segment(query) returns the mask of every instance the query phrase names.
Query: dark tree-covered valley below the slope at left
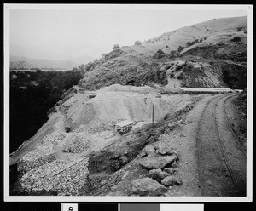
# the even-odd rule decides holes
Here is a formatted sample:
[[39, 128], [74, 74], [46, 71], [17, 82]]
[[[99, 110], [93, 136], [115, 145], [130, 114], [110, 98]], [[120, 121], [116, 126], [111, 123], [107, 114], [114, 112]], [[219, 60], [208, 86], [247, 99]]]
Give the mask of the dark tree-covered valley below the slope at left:
[[79, 71], [10, 72], [10, 152], [41, 128], [49, 109], [81, 77]]

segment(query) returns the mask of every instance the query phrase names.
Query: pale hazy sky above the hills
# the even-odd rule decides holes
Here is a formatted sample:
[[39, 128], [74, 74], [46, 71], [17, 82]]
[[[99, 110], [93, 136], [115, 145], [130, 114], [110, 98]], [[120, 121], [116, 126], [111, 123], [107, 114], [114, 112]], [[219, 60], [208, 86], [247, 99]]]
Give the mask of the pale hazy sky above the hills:
[[133, 45], [213, 18], [246, 10], [10, 9], [10, 54], [38, 59], [96, 58], [113, 44]]

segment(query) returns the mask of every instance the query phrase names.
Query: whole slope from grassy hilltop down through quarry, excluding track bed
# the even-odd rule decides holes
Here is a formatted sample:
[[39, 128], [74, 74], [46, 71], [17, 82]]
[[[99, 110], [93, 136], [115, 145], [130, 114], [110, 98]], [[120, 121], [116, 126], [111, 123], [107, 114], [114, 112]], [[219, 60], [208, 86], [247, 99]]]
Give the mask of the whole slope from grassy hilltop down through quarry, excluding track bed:
[[83, 77], [62, 94], [49, 121], [10, 155], [22, 176], [18, 193], [201, 196], [197, 125], [204, 106], [224, 95], [183, 88], [222, 93], [247, 86], [247, 17], [115, 45], [85, 63], [73, 68]]

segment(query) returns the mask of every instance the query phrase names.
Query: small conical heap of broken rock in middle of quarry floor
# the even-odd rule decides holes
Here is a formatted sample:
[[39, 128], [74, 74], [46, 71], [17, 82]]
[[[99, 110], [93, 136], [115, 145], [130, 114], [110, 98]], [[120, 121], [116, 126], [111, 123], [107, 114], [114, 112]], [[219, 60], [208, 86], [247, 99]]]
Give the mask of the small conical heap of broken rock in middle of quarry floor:
[[86, 133], [75, 136], [75, 138], [71, 141], [70, 144], [67, 144], [62, 151], [64, 152], [73, 152], [79, 153], [82, 151], [86, 151], [90, 148], [90, 140]]

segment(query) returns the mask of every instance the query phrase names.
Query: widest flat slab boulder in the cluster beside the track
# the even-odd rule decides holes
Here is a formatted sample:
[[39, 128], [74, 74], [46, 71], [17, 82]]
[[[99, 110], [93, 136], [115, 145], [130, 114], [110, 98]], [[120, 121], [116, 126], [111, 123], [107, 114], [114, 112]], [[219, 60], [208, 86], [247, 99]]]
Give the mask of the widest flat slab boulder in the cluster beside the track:
[[168, 164], [176, 161], [177, 156], [157, 156], [157, 157], [143, 157], [139, 163], [143, 166], [143, 168], [147, 169], [157, 169], [157, 168], [165, 168]]

